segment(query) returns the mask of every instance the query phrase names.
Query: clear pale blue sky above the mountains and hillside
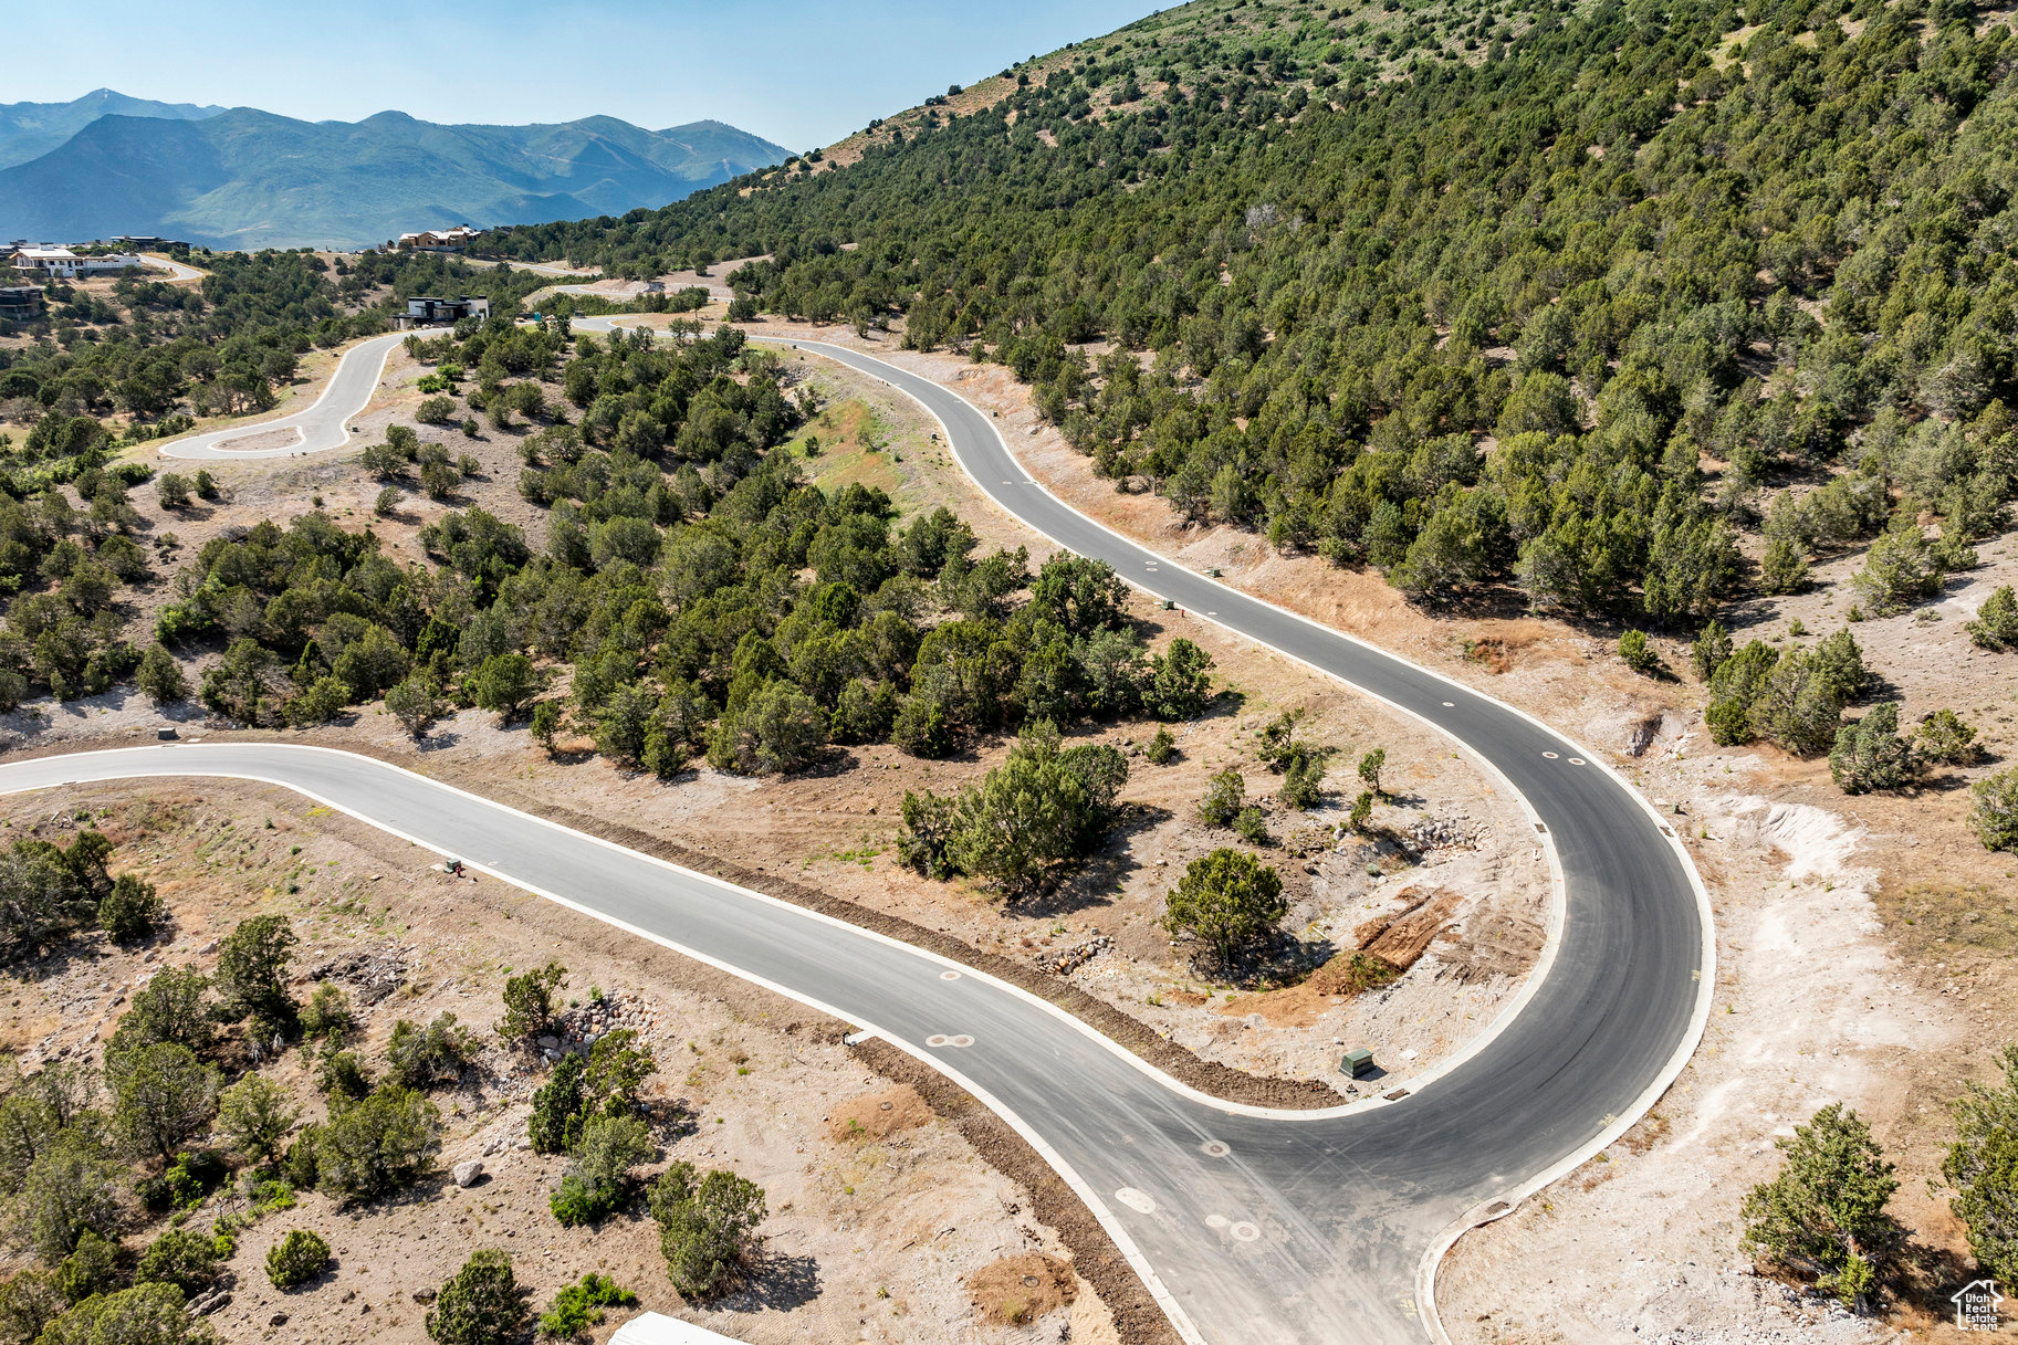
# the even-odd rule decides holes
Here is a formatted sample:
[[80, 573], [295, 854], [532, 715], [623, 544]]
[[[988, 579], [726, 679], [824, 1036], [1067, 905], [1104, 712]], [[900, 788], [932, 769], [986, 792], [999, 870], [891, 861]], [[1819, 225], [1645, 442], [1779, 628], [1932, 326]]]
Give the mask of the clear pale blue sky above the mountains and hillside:
[[0, 99], [61, 103], [109, 87], [311, 121], [385, 109], [492, 123], [605, 113], [656, 129], [716, 117], [787, 149], [811, 149], [948, 83], [1100, 36], [1156, 6], [97, 0], [91, 38], [34, 44], [32, 60], [8, 69]]

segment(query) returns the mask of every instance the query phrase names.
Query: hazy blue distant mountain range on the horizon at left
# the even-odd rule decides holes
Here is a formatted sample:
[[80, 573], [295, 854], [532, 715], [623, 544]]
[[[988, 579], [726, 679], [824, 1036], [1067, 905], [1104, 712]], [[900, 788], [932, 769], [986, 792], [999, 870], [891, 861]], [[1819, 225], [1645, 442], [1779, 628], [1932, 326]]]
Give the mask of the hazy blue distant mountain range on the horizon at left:
[[[36, 137], [63, 139], [22, 159], [18, 147]], [[295, 121], [101, 89], [77, 103], [0, 105], [0, 240], [161, 234], [212, 248], [361, 248], [422, 228], [658, 208], [785, 153], [720, 121], [664, 131], [615, 117]]]

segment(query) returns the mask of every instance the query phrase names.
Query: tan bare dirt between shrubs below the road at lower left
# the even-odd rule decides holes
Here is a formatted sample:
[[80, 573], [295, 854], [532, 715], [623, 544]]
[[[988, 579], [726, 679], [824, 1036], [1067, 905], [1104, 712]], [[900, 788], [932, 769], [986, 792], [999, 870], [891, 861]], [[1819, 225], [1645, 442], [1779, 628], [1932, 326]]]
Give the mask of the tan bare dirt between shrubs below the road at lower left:
[[[81, 819], [97, 825], [119, 845], [113, 867], [143, 873], [174, 911], [174, 928], [151, 946], [119, 950], [89, 936], [14, 982], [0, 1006], [0, 1045], [24, 1069], [93, 1059], [133, 990], [165, 966], [208, 972], [216, 940], [252, 913], [285, 913], [301, 936], [299, 998], [311, 988], [307, 972], [351, 954], [396, 968], [379, 974], [394, 988], [377, 1002], [367, 1002], [365, 978], [347, 986], [361, 1018], [353, 1049], [373, 1067], [398, 1018], [426, 1022], [446, 1010], [484, 1034], [476, 1069], [434, 1091], [446, 1123], [442, 1176], [353, 1212], [303, 1194], [297, 1208], [254, 1222], [228, 1264], [232, 1299], [212, 1317], [226, 1341], [270, 1341], [285, 1327], [281, 1339], [418, 1345], [426, 1309], [414, 1295], [440, 1287], [476, 1246], [509, 1250], [537, 1307], [599, 1270], [636, 1291], [644, 1309], [759, 1343], [1029, 1343], [1059, 1339], [1068, 1325], [1074, 1341], [1114, 1339], [1104, 1305], [1072, 1272], [1055, 1230], [1025, 1212], [1017, 1184], [912, 1089], [866, 1069], [839, 1045], [842, 1024], [502, 883], [440, 873], [432, 855], [289, 790], [93, 786], [6, 803], [10, 837], [65, 843]], [[553, 1220], [547, 1196], [565, 1159], [523, 1145], [543, 1071], [488, 1030], [502, 978], [547, 960], [569, 968], [571, 1000], [587, 1002], [593, 986], [644, 1024], [660, 1061], [646, 1097], [662, 1157], [735, 1168], [765, 1188], [765, 1262], [749, 1289], [714, 1305], [680, 1303], [648, 1216], [593, 1230]], [[301, 1051], [268, 1075], [307, 1119], [321, 1115]], [[458, 1190], [446, 1172], [466, 1157], [480, 1157], [486, 1176]], [[226, 1188], [192, 1226], [242, 1208]], [[131, 1240], [161, 1228], [165, 1220], [137, 1216]], [[337, 1266], [281, 1293], [266, 1282], [264, 1254], [291, 1228], [323, 1234]], [[1001, 1295], [971, 1287], [1039, 1256], [1057, 1268], [1047, 1297], [1031, 1297], [1015, 1319]], [[595, 1339], [626, 1315], [613, 1313]]]

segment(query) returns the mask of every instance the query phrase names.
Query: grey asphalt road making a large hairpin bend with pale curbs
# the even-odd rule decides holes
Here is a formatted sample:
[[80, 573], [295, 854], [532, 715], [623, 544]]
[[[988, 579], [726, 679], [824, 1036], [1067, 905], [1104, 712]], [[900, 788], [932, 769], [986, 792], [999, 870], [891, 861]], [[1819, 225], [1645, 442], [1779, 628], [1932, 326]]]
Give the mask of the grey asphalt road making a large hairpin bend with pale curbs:
[[[607, 319], [577, 323], [591, 325]], [[1447, 732], [1518, 792], [1532, 811], [1536, 863], [1554, 867], [1558, 909], [1528, 990], [1471, 1051], [1396, 1081], [1407, 1087], [1398, 1097], [1352, 1107], [1219, 1103], [989, 976], [321, 748], [184, 744], [6, 762], [0, 792], [133, 776], [297, 788], [932, 1063], [1057, 1168], [1187, 1341], [1443, 1339], [1433, 1276], [1449, 1242], [1624, 1133], [1701, 1034], [1713, 942], [1679, 839], [1622, 778], [1538, 720], [1074, 512], [1017, 466], [991, 417], [952, 391], [858, 351], [793, 345], [916, 397], [989, 496], [1174, 601], [1179, 625], [1217, 621], [1362, 688]]]

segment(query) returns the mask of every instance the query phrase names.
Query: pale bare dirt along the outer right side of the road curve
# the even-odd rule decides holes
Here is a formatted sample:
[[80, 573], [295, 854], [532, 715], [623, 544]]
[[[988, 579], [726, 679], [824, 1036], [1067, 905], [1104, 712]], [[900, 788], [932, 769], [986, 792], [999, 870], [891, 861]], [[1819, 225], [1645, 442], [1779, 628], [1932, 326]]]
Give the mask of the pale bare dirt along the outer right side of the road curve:
[[[1439, 1280], [1453, 1339], [1951, 1333], [1943, 1323], [1953, 1285], [1913, 1287], [1883, 1321], [1861, 1321], [1752, 1274], [1737, 1248], [1737, 1204], [1776, 1172], [1774, 1137], [1840, 1099], [1899, 1164], [1893, 1210], [1917, 1242], [1937, 1258], [1966, 1256], [1929, 1178], [1949, 1139], [1945, 1103], [1966, 1081], [1990, 1077], [1992, 1055], [2018, 1022], [2018, 980], [2004, 956], [2018, 944], [2018, 871], [1964, 825], [1968, 782], [2018, 748], [2018, 665], [1972, 649], [1961, 623], [2018, 579], [2010, 532], [1980, 544], [1982, 565], [1953, 577], [1937, 601], [1853, 627], [1881, 676], [1875, 698], [1901, 700], [1901, 722], [1953, 708], [1978, 726], [1986, 764], [1947, 770], [1907, 797], [1846, 799], [1826, 762], [1711, 744], [1701, 688], [1675, 639], [1655, 639], [1671, 674], [1643, 678], [1614, 657], [1616, 629], [1513, 605], [1425, 615], [1378, 575], [1283, 557], [1249, 532], [1187, 526], [1160, 498], [1118, 492], [1043, 425], [1027, 389], [999, 365], [900, 351], [894, 337], [862, 341], [846, 327], [759, 329], [856, 345], [957, 387], [997, 411], [1031, 474], [1084, 512], [1550, 720], [1604, 752], [1657, 807], [1689, 819], [1677, 829], [1717, 911], [1717, 996], [1703, 1049], [1624, 1141], [1457, 1244]], [[1859, 567], [1861, 551], [1816, 565], [1806, 595], [1744, 605], [1735, 637], [1788, 647], [1834, 633]]]

